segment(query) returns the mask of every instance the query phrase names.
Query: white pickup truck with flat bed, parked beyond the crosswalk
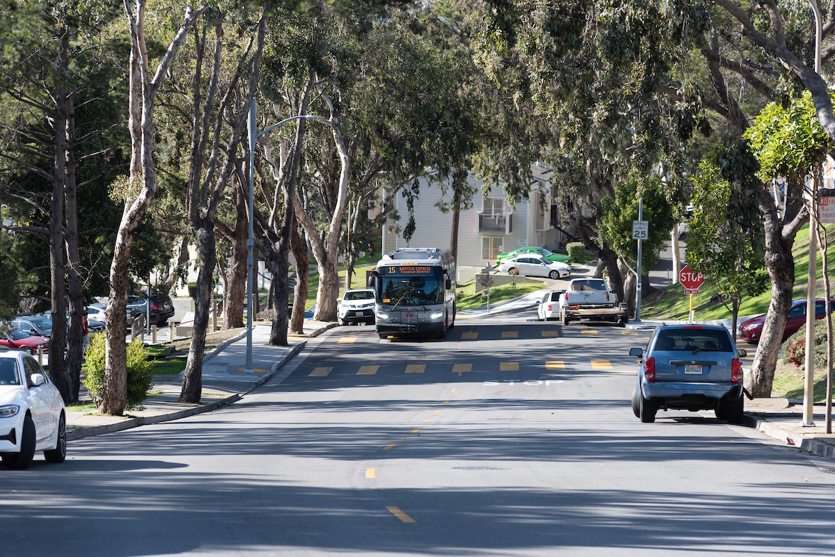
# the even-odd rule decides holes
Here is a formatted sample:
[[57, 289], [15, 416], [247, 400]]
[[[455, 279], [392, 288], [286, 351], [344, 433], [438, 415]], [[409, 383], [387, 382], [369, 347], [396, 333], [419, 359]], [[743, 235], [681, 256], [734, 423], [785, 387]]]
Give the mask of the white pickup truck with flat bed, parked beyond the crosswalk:
[[629, 321], [629, 307], [618, 304], [605, 278], [574, 278], [559, 300], [559, 320], [609, 321], [621, 326]]

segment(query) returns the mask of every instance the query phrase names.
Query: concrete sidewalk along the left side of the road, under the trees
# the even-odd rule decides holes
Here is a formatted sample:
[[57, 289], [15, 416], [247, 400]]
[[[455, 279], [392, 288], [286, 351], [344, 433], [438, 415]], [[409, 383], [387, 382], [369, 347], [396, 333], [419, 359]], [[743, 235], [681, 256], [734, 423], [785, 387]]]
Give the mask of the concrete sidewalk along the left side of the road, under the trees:
[[144, 409], [127, 410], [124, 416], [100, 415], [95, 409], [67, 413], [67, 439], [82, 439], [139, 425], [157, 424], [172, 419], [210, 412], [234, 403], [241, 395], [263, 384], [276, 369], [303, 349], [307, 339], [337, 324], [305, 321], [305, 335], [288, 336], [290, 346], [271, 346], [270, 324], [256, 324], [252, 329], [252, 370], [246, 368], [246, 333], [220, 343], [203, 359], [203, 394], [198, 404], [177, 402], [183, 374], [154, 375], [152, 391], [144, 400]]

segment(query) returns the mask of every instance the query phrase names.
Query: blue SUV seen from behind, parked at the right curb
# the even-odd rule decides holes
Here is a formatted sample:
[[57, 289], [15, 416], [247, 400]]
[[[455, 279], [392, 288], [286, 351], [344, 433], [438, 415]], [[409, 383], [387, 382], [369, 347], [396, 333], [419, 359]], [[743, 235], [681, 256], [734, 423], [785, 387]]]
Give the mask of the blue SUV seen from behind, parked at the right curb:
[[724, 327], [661, 325], [640, 358], [632, 411], [642, 422], [654, 422], [658, 410], [712, 409], [716, 418], [742, 423], [742, 364], [745, 350], [736, 349]]

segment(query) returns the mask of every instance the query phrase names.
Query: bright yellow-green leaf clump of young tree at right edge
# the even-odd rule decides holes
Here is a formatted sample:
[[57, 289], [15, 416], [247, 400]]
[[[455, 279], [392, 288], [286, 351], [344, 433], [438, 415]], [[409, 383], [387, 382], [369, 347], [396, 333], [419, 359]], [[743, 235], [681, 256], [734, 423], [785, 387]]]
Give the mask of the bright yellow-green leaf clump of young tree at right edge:
[[[833, 95], [830, 91], [830, 96]], [[785, 177], [800, 182], [817, 168], [832, 142], [817, 121], [812, 93], [794, 98], [787, 107], [770, 103], [757, 116], [744, 137], [751, 142], [760, 163], [762, 180]]]

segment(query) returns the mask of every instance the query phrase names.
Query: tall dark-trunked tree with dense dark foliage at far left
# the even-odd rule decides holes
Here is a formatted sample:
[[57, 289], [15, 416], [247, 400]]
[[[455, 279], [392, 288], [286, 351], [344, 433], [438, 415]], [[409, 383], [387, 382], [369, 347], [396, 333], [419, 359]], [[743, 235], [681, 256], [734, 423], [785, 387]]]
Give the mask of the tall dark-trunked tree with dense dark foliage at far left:
[[[48, 238], [48, 280], [21, 282], [49, 299], [50, 373], [71, 403], [78, 400], [83, 290], [89, 281], [79, 248], [79, 189], [111, 172], [106, 157], [111, 163], [119, 159], [119, 138], [109, 133], [119, 122], [114, 50], [120, 43], [108, 31], [117, 5], [7, 2], [0, 13], [4, 203], [16, 213], [13, 228]], [[43, 238], [28, 244], [43, 245]], [[28, 255], [26, 264], [38, 260]]]

